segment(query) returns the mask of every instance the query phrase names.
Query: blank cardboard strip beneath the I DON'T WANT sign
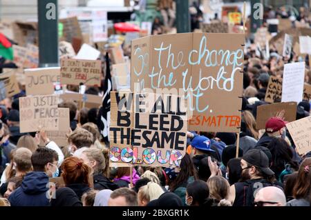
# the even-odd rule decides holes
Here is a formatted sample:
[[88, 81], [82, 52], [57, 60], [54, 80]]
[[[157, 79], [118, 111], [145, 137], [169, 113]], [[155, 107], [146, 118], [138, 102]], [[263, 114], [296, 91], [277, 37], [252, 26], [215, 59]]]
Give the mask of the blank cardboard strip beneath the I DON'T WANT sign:
[[77, 103], [85, 103], [86, 108], [99, 108], [102, 105], [102, 97], [95, 94], [79, 94], [75, 92], [68, 92], [59, 95], [62, 101], [76, 101]]

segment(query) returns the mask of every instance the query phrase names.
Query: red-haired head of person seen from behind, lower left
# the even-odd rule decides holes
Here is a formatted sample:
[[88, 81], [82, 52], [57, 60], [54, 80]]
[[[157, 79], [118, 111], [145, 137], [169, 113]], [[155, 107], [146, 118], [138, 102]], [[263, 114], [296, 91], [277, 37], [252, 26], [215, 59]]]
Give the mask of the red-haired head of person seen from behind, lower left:
[[62, 177], [64, 178], [65, 185], [73, 183], [84, 183], [91, 186], [88, 181], [88, 176], [91, 174], [91, 169], [82, 159], [77, 157], [68, 157], [62, 163]]

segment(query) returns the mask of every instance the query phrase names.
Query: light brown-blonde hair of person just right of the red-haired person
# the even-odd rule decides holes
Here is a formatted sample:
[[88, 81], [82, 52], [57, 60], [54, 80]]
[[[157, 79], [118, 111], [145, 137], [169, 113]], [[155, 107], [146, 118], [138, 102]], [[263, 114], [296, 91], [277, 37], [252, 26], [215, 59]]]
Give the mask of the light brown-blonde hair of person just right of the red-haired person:
[[84, 150], [82, 152], [82, 154], [85, 154], [86, 157], [90, 160], [90, 161], [96, 161], [96, 166], [94, 168], [94, 174], [102, 174], [105, 177], [109, 177], [106, 176], [107, 174], [107, 168], [109, 169], [109, 166], [106, 166], [106, 159], [104, 157], [104, 153], [102, 152], [102, 150], [98, 150], [97, 148], [88, 148], [86, 150]]

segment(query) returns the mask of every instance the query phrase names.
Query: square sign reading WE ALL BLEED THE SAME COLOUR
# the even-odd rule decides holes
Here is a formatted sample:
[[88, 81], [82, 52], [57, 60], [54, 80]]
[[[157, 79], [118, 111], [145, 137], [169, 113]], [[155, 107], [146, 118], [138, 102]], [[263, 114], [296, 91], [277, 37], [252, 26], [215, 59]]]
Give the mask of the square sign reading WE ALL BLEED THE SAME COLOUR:
[[109, 139], [111, 166], [179, 167], [187, 143], [185, 99], [111, 92]]

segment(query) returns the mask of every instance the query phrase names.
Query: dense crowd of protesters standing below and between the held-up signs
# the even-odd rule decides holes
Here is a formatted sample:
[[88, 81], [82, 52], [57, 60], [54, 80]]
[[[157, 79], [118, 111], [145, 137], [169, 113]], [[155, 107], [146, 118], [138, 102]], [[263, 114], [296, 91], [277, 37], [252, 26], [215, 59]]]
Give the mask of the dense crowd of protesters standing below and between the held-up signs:
[[[57, 146], [44, 130], [20, 132], [24, 90], [4, 99], [0, 206], [310, 206], [311, 152], [298, 153], [279, 115], [268, 119], [265, 129], [256, 129], [256, 109], [267, 104], [269, 77], [282, 77], [284, 64], [299, 57], [292, 52], [284, 59], [271, 48], [265, 60], [252, 48], [245, 53], [238, 151], [235, 133], [189, 131], [179, 168], [109, 167], [98, 108], [79, 111], [75, 102], [61, 103], [70, 109], [70, 131], [67, 146]], [[311, 83], [307, 68], [305, 83]], [[102, 88], [90, 87], [86, 93], [99, 95]], [[302, 101], [296, 119], [309, 115], [310, 103]], [[64, 186], [51, 191], [50, 178], [56, 177], [62, 177]]]

